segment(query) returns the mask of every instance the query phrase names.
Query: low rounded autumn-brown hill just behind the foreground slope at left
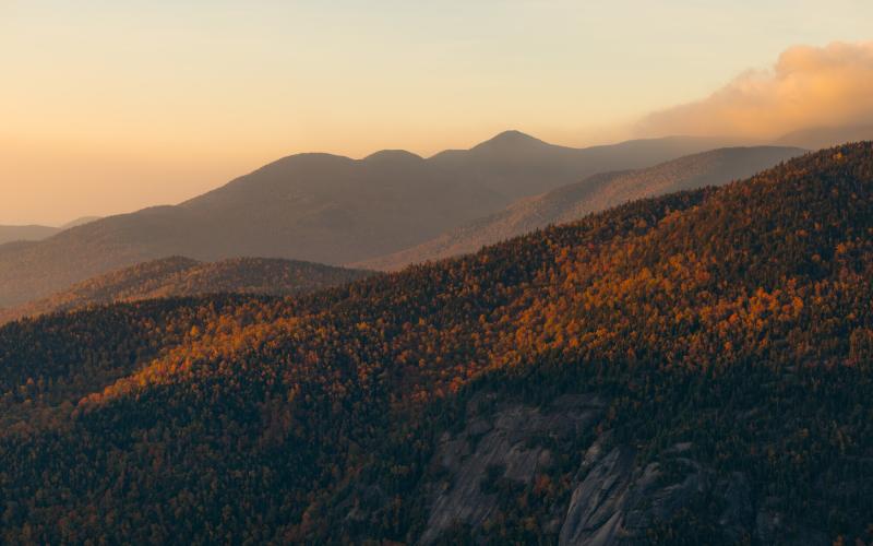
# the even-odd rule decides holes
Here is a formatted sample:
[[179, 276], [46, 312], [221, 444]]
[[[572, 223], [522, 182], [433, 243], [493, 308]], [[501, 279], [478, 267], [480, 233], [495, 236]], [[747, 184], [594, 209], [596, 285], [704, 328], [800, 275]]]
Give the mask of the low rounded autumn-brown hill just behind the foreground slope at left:
[[46, 299], [0, 309], [0, 323], [95, 305], [162, 297], [219, 293], [298, 295], [357, 281], [370, 274], [360, 270], [278, 259], [235, 258], [201, 263], [172, 257], [106, 273]]

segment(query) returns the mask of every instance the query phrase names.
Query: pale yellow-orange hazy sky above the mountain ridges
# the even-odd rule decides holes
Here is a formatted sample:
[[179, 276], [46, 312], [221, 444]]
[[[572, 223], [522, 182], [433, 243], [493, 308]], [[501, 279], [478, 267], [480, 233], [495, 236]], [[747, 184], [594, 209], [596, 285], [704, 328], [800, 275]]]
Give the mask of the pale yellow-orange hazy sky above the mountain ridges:
[[871, 22], [870, 0], [0, 0], [0, 224], [178, 202], [303, 151], [427, 155], [509, 128], [583, 145], [699, 132], [701, 111], [754, 132], [706, 97], [842, 88], [779, 76], [842, 52], [779, 56]]

